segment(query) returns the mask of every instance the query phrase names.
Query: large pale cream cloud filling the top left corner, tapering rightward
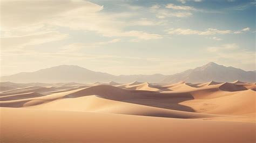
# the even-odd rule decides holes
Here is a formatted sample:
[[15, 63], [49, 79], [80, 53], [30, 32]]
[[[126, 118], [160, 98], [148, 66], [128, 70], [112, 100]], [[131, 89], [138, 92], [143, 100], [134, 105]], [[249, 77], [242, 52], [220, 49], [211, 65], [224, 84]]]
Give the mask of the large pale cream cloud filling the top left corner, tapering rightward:
[[1, 28], [22, 28], [32, 24], [46, 23], [64, 13], [80, 11], [93, 13], [103, 6], [83, 1], [1, 1]]

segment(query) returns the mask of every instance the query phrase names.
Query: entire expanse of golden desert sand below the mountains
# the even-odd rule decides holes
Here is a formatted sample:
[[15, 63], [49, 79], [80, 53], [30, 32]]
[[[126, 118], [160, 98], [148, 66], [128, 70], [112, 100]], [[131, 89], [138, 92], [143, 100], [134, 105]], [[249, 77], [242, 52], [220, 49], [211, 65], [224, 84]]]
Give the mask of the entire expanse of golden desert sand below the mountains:
[[255, 142], [256, 84], [0, 84], [0, 142]]

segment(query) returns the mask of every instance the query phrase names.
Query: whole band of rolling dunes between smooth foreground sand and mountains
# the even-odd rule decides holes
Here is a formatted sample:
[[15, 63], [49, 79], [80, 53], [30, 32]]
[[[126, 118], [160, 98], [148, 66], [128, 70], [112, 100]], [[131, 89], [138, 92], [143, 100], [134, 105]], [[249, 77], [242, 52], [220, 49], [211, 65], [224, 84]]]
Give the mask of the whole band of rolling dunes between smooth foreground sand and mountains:
[[[10, 85], [16, 88], [0, 93], [0, 106], [2, 107], [48, 108], [51, 110], [69, 110], [74, 107], [74, 111], [169, 118], [212, 117], [216, 119], [219, 114], [223, 114], [224, 118], [226, 118], [225, 115], [247, 115], [250, 117], [255, 114], [255, 84], [241, 83], [240, 81], [233, 83], [210, 81], [201, 84], [180, 82], [170, 85], [137, 81], [129, 84], [110, 82], [38, 85], [35, 83], [25, 85], [11, 83]], [[92, 110], [89, 105], [97, 105], [97, 110], [96, 107]], [[245, 107], [245, 109], [239, 110], [239, 107]], [[114, 108], [119, 108], [119, 110]], [[209, 116], [208, 113], [211, 115]]]

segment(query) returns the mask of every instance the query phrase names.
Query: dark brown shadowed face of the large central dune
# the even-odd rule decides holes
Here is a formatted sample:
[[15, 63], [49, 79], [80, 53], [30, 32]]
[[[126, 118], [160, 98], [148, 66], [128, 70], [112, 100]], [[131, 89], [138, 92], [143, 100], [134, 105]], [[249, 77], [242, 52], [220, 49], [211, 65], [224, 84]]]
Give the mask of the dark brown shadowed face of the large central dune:
[[64, 98], [77, 98], [90, 95], [132, 104], [195, 112], [193, 108], [179, 104], [183, 101], [194, 99], [193, 96], [187, 92], [161, 93], [157, 91], [125, 90], [109, 85], [99, 85], [68, 94]]

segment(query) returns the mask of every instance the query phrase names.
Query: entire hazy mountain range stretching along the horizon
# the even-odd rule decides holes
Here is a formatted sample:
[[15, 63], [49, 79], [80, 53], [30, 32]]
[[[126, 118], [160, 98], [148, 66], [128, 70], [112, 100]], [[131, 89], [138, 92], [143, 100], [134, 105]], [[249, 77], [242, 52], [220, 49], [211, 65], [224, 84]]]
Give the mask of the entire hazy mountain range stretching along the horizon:
[[95, 72], [87, 70], [77, 65], [60, 65], [42, 69], [35, 72], [21, 72], [11, 76], [1, 77], [1, 81], [11, 81], [15, 83], [94, 83], [116, 81], [118, 83], [128, 83], [132, 81], [149, 83], [177, 83], [186, 81], [188, 83], [204, 83], [207, 81], [231, 82], [234, 80], [255, 82], [256, 72], [244, 71], [232, 66], [223, 66], [216, 63], [196, 67], [196, 69], [184, 72], [164, 75], [164, 74], [135, 74], [114, 76], [109, 73]]

